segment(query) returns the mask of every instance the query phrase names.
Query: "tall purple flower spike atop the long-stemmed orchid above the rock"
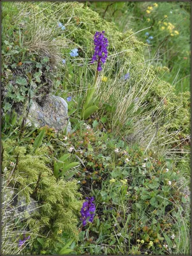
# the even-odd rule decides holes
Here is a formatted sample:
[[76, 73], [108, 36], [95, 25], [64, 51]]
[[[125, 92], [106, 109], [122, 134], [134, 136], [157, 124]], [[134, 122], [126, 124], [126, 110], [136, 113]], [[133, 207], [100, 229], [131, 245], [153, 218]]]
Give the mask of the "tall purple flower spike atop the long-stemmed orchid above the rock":
[[96, 32], [94, 35], [94, 54], [92, 56], [92, 63], [98, 61], [98, 71], [102, 70], [101, 62], [104, 64], [107, 60], [108, 39], [104, 36], [105, 31]]

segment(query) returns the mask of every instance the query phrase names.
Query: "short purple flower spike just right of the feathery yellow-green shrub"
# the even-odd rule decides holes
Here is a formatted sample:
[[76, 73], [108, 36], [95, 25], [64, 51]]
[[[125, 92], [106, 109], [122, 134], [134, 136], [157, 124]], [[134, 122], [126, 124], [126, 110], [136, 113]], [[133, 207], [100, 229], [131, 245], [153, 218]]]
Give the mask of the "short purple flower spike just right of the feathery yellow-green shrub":
[[94, 219], [95, 215], [95, 205], [93, 203], [94, 197], [92, 196], [91, 198], [86, 197], [87, 201], [84, 202], [82, 209], [80, 211], [83, 222], [83, 226], [87, 224], [87, 221], [92, 222]]

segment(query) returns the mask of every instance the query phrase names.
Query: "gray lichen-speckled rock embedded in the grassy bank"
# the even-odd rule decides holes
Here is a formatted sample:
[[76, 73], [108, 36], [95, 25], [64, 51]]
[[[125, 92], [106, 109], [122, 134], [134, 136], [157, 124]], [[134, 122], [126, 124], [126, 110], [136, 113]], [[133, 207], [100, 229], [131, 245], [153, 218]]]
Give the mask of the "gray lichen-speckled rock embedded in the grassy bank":
[[67, 102], [55, 95], [45, 97], [41, 106], [33, 100], [29, 108], [26, 125], [37, 128], [48, 125], [48, 127], [54, 128], [57, 131], [66, 128], [67, 132], [71, 132]]

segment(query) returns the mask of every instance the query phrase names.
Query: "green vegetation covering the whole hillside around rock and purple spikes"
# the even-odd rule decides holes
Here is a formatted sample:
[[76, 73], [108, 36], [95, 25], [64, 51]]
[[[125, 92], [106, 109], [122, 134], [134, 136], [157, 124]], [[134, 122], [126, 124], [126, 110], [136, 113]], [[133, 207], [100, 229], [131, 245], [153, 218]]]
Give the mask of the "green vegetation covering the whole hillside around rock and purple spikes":
[[[115, 3], [103, 19], [108, 4], [2, 4], [2, 254], [190, 252], [188, 45], [180, 51], [190, 6]], [[96, 31], [108, 39], [100, 72], [91, 63]], [[41, 106], [48, 93], [67, 100], [70, 134], [25, 124], [31, 102]], [[84, 226], [92, 196], [94, 220]], [[33, 200], [33, 213], [15, 198]]]

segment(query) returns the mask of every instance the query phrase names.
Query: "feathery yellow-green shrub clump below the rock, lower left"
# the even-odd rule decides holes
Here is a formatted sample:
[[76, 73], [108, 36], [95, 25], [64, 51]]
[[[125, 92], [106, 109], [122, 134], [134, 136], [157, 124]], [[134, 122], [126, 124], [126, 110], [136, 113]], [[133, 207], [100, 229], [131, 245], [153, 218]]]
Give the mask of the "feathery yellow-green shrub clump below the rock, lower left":
[[17, 189], [18, 201], [20, 196], [25, 196], [26, 202], [31, 198], [38, 202], [38, 211], [26, 220], [29, 230], [33, 230], [30, 244], [38, 236], [46, 237], [45, 248], [63, 243], [58, 235], [60, 230], [77, 239], [78, 214], [82, 207], [77, 181], [55, 179], [47, 166], [48, 148], [45, 146], [34, 150], [30, 146], [18, 147], [16, 141], [7, 140], [3, 148], [3, 170], [7, 168], [5, 179], [12, 177], [10, 185]]

